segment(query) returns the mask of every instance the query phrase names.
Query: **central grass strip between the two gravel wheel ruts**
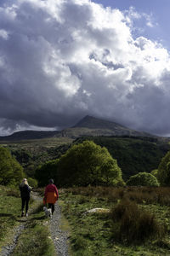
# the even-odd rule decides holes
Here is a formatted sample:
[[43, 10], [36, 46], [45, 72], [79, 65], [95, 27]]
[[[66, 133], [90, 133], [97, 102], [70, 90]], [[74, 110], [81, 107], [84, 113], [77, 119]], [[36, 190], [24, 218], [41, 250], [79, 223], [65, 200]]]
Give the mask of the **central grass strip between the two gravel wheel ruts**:
[[48, 221], [42, 212], [42, 203], [35, 204], [12, 256], [54, 256], [54, 243], [48, 230]]

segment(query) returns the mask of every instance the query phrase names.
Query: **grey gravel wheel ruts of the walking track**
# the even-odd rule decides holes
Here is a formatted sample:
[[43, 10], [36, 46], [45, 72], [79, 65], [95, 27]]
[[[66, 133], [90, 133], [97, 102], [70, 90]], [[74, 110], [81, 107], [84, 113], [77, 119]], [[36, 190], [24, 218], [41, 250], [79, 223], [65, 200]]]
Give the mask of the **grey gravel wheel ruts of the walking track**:
[[[35, 201], [42, 201], [42, 197], [40, 197], [37, 192], [32, 192], [32, 198]], [[32, 209], [29, 210], [29, 214], [31, 214]], [[49, 230], [51, 233], [51, 237], [54, 241], [55, 252], [57, 256], [70, 256], [68, 252], [68, 232], [62, 230], [61, 227], [61, 207], [57, 202], [55, 204], [55, 211], [53, 217], [48, 220], [49, 221]], [[23, 230], [26, 229], [27, 219], [23, 220], [23, 222], [14, 228], [14, 236], [13, 239], [8, 245], [2, 247], [2, 251], [0, 256], [10, 256], [14, 252], [14, 248], [17, 246], [17, 242], [22, 234]], [[32, 255], [36, 256], [36, 255]]]

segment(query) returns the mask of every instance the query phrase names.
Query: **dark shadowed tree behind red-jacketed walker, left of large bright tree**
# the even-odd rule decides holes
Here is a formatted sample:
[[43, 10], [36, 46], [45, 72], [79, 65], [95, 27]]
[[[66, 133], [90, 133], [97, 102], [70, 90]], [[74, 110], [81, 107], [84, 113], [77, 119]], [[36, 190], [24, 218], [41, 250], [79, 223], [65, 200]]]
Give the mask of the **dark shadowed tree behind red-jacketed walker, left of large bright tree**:
[[35, 177], [39, 187], [46, 186], [50, 178], [54, 178], [54, 183], [59, 183], [58, 163], [59, 160], [51, 160], [37, 168]]

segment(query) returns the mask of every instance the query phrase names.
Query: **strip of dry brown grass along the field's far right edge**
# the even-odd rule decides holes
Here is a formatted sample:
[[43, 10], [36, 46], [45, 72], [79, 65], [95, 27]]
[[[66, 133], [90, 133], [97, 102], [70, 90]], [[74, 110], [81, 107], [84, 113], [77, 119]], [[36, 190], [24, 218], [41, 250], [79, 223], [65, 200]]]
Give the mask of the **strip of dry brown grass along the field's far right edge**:
[[[61, 190], [62, 191], [62, 190]], [[72, 195], [85, 195], [106, 199], [116, 202], [122, 199], [135, 201], [138, 204], [159, 204], [161, 206], [170, 206], [170, 188], [152, 188], [152, 187], [92, 187], [88, 186], [65, 189]], [[62, 193], [62, 192], [61, 192]]]

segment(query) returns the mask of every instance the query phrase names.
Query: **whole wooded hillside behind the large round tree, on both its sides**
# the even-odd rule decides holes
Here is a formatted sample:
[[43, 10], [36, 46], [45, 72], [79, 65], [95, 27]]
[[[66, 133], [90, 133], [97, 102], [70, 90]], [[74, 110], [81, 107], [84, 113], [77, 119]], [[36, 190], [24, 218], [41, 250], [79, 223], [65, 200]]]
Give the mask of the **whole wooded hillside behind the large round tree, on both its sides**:
[[[124, 180], [138, 172], [151, 172], [157, 169], [161, 158], [170, 150], [170, 144], [166, 140], [150, 137], [81, 137], [73, 144], [82, 143], [87, 139], [108, 149], [112, 158], [117, 160]], [[8, 145], [23, 166], [27, 177], [35, 178], [38, 166], [65, 154], [71, 143], [72, 139], [68, 137], [53, 137], [5, 145]]]

